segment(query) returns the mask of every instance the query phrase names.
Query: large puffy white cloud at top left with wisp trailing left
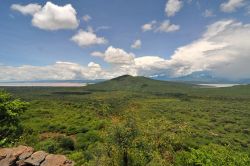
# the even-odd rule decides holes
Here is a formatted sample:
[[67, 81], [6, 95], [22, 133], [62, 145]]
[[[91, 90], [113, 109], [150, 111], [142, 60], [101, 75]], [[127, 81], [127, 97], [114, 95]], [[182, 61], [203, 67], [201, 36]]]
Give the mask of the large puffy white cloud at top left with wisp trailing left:
[[43, 7], [38, 4], [13, 4], [11, 9], [32, 15], [32, 25], [43, 30], [76, 29], [79, 26], [77, 12], [71, 4], [58, 6], [47, 2]]

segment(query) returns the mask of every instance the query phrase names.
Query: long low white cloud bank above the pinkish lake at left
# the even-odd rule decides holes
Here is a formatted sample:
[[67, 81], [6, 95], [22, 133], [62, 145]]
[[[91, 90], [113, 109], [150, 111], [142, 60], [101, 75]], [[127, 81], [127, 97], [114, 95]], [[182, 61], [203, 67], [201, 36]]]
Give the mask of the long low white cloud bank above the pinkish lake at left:
[[87, 66], [61, 61], [47, 66], [0, 66], [0, 70], [1, 81], [109, 78], [108, 73], [94, 62], [90, 62]]

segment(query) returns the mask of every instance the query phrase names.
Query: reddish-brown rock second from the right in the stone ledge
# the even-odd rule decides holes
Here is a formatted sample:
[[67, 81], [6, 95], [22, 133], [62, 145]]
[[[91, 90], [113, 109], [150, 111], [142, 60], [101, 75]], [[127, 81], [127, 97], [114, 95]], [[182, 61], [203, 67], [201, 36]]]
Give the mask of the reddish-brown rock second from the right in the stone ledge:
[[48, 154], [44, 151], [37, 151], [33, 153], [28, 159], [26, 159], [24, 162], [26, 164], [34, 165], [34, 166], [39, 166], [44, 160], [45, 157]]

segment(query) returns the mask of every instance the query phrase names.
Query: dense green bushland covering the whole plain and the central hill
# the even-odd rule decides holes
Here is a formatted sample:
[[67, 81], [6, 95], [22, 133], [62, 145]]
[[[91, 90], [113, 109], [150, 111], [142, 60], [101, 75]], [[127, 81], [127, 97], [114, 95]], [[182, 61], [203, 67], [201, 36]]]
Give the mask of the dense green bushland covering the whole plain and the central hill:
[[122, 76], [82, 88], [6, 87], [30, 103], [15, 144], [77, 165], [250, 165], [250, 86]]

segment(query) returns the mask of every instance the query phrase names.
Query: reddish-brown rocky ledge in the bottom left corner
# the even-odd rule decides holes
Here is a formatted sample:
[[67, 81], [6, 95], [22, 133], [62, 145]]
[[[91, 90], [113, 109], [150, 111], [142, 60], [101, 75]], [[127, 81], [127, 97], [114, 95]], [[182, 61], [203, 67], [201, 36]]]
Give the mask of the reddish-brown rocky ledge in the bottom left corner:
[[0, 149], [0, 166], [73, 166], [64, 155], [35, 152], [33, 148], [18, 146]]

